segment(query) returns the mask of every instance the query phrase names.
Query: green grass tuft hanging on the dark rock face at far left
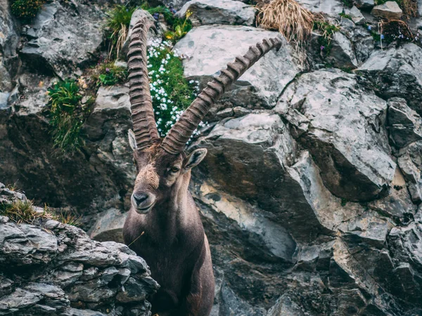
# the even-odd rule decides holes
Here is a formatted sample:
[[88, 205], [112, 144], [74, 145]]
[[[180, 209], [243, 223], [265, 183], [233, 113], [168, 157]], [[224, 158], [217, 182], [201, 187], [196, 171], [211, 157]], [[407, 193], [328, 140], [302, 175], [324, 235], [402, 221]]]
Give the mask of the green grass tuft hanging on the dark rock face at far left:
[[[82, 80], [84, 82], [84, 80]], [[80, 82], [82, 86], [85, 84]], [[72, 152], [82, 145], [80, 131], [93, 98], [82, 105], [82, 94], [74, 80], [56, 82], [49, 88], [49, 103], [46, 107], [51, 124], [54, 146], [63, 152]]]

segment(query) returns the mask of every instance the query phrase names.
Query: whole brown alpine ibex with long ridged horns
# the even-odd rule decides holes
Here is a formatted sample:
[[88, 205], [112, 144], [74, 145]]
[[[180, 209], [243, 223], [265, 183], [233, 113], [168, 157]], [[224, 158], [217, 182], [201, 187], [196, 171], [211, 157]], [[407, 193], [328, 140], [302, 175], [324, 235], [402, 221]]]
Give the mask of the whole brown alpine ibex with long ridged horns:
[[124, 242], [145, 258], [152, 277], [160, 284], [151, 299], [153, 315], [207, 316], [214, 301], [214, 275], [210, 246], [195, 202], [188, 192], [191, 169], [207, 154], [200, 148], [191, 154], [184, 147], [216, 100], [241, 75], [281, 39], [251, 46], [243, 57], [221, 71], [181, 115], [164, 139], [155, 124], [149, 87], [146, 37], [154, 25], [140, 20], [134, 26], [127, 54], [129, 96], [134, 131], [136, 176], [132, 207], [124, 223]]

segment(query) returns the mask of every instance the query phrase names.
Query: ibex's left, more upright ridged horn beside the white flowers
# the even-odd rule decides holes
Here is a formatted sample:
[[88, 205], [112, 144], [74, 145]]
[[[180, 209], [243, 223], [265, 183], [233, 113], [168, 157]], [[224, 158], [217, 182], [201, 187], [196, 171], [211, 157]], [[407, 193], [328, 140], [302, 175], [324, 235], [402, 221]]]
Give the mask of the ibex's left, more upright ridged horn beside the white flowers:
[[140, 150], [149, 147], [155, 140], [160, 139], [154, 119], [148, 68], [146, 66], [146, 38], [150, 27], [155, 29], [155, 25], [147, 18], [143, 18], [136, 23], [132, 29], [129, 53], [127, 53], [129, 98], [136, 145]]

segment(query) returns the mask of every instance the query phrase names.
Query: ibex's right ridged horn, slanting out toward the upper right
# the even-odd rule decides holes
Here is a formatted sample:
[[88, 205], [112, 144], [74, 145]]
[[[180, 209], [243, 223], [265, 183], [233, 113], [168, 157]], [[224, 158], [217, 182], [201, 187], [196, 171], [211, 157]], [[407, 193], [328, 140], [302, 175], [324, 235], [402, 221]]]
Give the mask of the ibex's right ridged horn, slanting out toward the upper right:
[[246, 70], [274, 47], [277, 49], [281, 47], [281, 39], [279, 37], [264, 39], [262, 43], [250, 46], [248, 53], [243, 55], [243, 57], [238, 56], [234, 62], [230, 62], [226, 69], [221, 70], [221, 74], [218, 77], [207, 83], [207, 87], [189, 105], [179, 118], [179, 121], [174, 124], [167, 136], [165, 136], [161, 147], [170, 154], [181, 152], [200, 121], [203, 120], [212, 105], [223, 95], [226, 88], [231, 86]]

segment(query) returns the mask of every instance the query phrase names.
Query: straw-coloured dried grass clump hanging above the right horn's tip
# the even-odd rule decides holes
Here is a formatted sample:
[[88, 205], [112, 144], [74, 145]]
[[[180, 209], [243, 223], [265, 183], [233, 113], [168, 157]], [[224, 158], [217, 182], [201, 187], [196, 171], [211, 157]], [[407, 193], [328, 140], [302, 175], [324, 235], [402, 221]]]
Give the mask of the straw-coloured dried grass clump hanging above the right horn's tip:
[[277, 29], [290, 43], [303, 44], [314, 27], [315, 15], [294, 0], [274, 0], [264, 4], [257, 16], [257, 24]]

